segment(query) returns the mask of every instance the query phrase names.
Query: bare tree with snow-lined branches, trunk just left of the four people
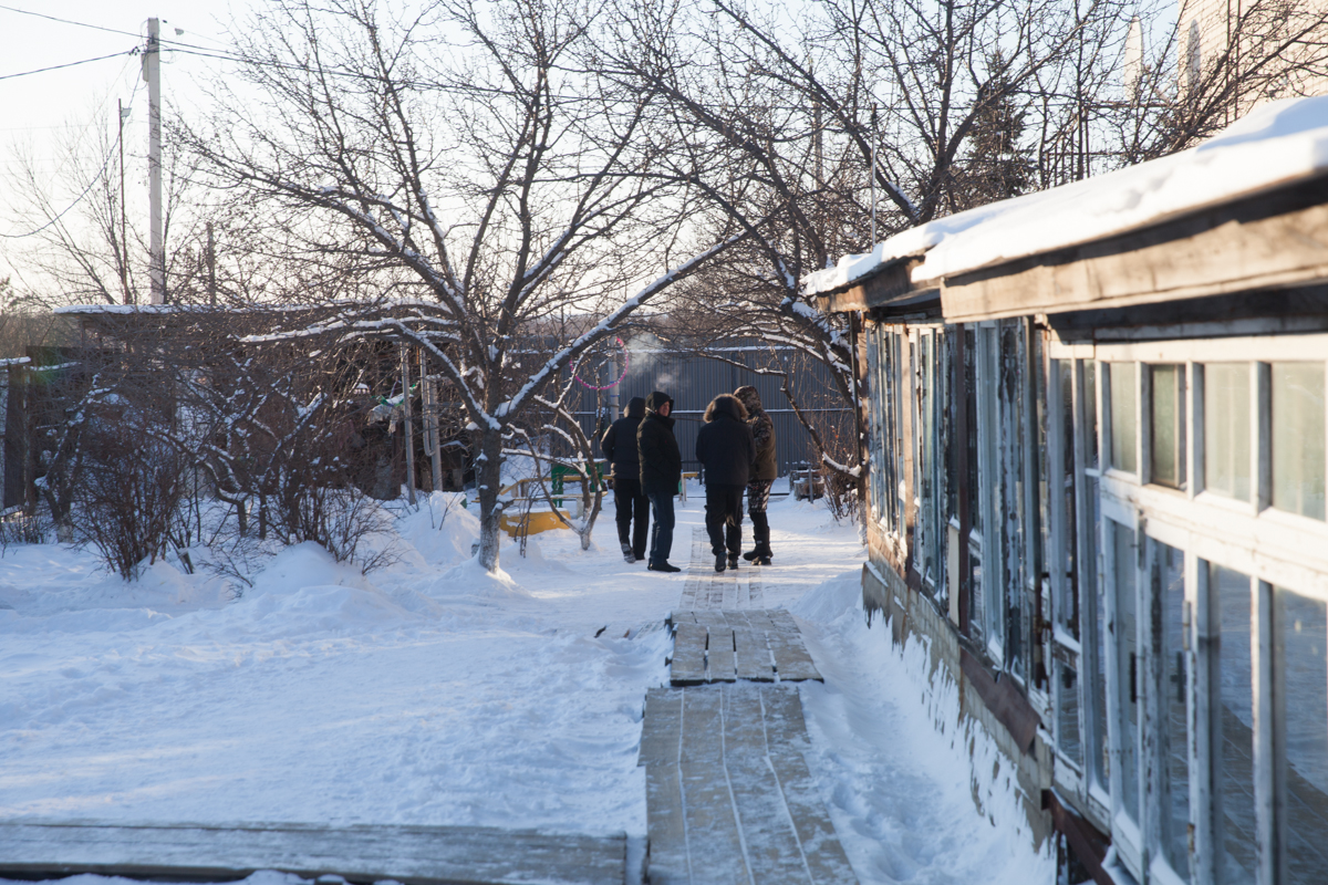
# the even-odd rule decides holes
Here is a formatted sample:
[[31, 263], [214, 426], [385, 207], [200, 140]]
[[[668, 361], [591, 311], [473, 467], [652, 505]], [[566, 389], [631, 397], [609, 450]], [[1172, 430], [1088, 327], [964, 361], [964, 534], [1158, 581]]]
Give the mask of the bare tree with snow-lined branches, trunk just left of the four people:
[[[458, 391], [489, 569], [509, 429], [560, 366], [742, 236], [721, 226], [675, 257], [691, 195], [648, 174], [671, 147], [647, 137], [653, 97], [595, 74], [584, 21], [588, 7], [544, 0], [412, 17], [279, 0], [240, 33], [244, 90], [215, 96], [226, 125], [179, 131], [211, 180], [376, 289], [284, 334], [406, 341]], [[531, 361], [525, 329], [562, 309], [599, 320]]]

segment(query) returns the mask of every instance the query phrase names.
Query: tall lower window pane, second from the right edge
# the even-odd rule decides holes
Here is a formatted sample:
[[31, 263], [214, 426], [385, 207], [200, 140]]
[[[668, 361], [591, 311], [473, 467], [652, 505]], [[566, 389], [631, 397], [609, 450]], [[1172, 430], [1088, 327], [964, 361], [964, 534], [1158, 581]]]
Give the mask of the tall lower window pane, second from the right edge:
[[[1246, 366], [1246, 378], [1250, 377]], [[1207, 385], [1207, 377], [1204, 377]], [[1226, 848], [1224, 885], [1256, 881], [1258, 833], [1254, 811], [1254, 674], [1250, 667], [1250, 577], [1208, 565], [1208, 593], [1216, 604], [1218, 697], [1222, 705], [1214, 750], [1220, 747], [1216, 789], [1222, 809], [1220, 832]]]

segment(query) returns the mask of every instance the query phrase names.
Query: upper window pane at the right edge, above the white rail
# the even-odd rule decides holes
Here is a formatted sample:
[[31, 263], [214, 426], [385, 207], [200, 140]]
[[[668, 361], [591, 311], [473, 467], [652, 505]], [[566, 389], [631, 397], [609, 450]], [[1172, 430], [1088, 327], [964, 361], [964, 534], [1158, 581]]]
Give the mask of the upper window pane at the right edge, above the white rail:
[[1272, 364], [1272, 506], [1324, 519], [1324, 364]]

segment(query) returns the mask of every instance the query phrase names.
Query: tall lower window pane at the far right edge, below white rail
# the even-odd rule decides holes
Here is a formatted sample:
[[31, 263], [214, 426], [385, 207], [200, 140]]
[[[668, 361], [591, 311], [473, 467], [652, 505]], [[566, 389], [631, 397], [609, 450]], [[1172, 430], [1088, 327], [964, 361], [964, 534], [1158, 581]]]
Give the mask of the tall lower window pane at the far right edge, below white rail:
[[1278, 589], [1279, 657], [1287, 691], [1288, 882], [1328, 870], [1328, 605]]

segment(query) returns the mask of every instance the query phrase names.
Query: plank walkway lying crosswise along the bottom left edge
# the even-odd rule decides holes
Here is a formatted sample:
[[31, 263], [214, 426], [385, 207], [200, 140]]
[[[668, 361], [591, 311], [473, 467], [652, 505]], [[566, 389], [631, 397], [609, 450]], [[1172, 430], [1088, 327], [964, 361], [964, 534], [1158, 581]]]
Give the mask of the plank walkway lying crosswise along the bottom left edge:
[[234, 881], [260, 869], [405, 885], [623, 885], [625, 836], [556, 836], [486, 827], [301, 824], [98, 825], [0, 823], [0, 877], [77, 873]]

